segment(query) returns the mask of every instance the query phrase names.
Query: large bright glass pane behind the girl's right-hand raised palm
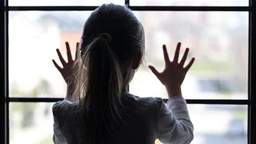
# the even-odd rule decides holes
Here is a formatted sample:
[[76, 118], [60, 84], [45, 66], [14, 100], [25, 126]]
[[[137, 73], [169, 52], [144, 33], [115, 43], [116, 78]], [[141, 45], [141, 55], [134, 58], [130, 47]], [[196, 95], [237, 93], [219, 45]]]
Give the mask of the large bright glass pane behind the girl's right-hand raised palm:
[[[182, 84], [186, 99], [248, 98], [248, 12], [134, 13], [145, 29], [146, 63], [159, 72], [164, 69], [163, 44], [170, 60], [177, 42], [182, 42], [180, 54], [190, 48], [188, 58], [196, 60]], [[145, 66], [135, 74], [130, 92], [168, 98], [163, 84]]]

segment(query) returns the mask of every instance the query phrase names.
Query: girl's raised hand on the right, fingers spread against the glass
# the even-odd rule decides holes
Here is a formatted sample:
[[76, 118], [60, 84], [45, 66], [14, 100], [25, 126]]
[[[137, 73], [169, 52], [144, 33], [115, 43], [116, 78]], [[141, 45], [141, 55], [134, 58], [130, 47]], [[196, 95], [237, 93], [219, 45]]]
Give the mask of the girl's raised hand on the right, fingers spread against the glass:
[[193, 65], [195, 58], [192, 58], [189, 61], [188, 65], [184, 67], [184, 63], [187, 59], [189, 48], [186, 49], [184, 52], [184, 56], [179, 63], [179, 52], [180, 52], [180, 42], [177, 44], [177, 48], [175, 51], [175, 55], [173, 61], [169, 60], [168, 52], [166, 50], [166, 45], [163, 45], [163, 52], [164, 52], [164, 61], [165, 61], [165, 68], [163, 72], [158, 72], [156, 68], [152, 66], [148, 66], [150, 70], [156, 75], [156, 77], [164, 84], [168, 91], [169, 97], [173, 96], [181, 96], [180, 86], [184, 81], [186, 73], [188, 72], [191, 65]]

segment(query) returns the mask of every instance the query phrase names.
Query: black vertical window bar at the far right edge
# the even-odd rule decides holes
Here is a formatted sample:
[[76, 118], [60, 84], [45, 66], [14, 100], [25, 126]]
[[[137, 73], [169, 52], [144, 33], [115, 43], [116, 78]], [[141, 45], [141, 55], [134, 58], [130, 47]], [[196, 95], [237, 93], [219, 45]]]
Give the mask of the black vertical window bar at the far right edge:
[[[250, 0], [249, 6], [252, 8], [252, 11], [249, 12], [249, 58], [250, 58], [250, 70], [249, 70], [249, 99], [251, 101], [250, 106], [248, 107], [248, 143], [256, 143], [256, 22], [255, 22], [255, 1]], [[254, 49], [253, 49], [254, 48]]]

